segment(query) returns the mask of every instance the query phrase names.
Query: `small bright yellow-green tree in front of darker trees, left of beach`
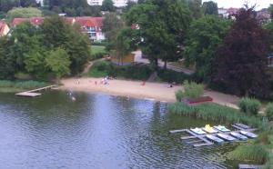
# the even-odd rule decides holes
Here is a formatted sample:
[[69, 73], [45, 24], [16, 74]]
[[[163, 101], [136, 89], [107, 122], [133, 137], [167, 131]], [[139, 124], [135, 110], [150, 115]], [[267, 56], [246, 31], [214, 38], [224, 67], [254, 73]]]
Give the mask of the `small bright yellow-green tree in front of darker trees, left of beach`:
[[71, 64], [69, 56], [66, 50], [62, 48], [56, 48], [55, 51], [51, 51], [45, 58], [46, 66], [56, 75], [57, 79], [60, 79], [64, 75], [69, 75], [69, 65]]

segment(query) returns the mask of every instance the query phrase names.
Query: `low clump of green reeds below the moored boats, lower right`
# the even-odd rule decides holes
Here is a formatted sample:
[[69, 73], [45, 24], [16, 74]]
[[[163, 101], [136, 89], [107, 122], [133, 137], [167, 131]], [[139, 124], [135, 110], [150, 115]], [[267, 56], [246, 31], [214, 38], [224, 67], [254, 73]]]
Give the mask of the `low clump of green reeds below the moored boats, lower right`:
[[264, 145], [260, 144], [244, 144], [239, 145], [234, 151], [228, 155], [229, 159], [250, 161], [259, 164], [264, 164], [268, 159], [268, 151]]

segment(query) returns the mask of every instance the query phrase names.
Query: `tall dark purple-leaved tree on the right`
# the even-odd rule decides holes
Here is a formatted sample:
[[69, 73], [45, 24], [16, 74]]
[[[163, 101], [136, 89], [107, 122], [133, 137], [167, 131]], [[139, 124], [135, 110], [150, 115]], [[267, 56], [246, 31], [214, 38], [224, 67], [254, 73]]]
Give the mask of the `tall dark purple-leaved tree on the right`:
[[253, 8], [241, 9], [218, 49], [214, 81], [232, 94], [266, 96], [267, 36]]

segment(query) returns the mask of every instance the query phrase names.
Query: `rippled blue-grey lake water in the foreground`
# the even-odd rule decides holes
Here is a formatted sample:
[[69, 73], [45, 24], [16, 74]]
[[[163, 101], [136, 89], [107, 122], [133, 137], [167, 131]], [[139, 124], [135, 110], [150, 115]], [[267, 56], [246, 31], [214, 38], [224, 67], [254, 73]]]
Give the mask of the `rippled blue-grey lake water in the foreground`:
[[167, 104], [106, 94], [0, 94], [0, 168], [232, 168], [235, 145], [193, 148], [168, 134], [206, 122]]

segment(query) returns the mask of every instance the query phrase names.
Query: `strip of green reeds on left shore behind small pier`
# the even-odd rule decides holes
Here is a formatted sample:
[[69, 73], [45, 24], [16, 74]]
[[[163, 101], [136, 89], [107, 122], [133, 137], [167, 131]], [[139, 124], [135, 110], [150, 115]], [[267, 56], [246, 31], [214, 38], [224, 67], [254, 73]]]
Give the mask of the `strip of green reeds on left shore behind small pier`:
[[1, 93], [16, 93], [24, 90], [35, 89], [45, 87], [48, 85], [45, 82], [38, 81], [7, 81], [0, 80], [0, 92]]

